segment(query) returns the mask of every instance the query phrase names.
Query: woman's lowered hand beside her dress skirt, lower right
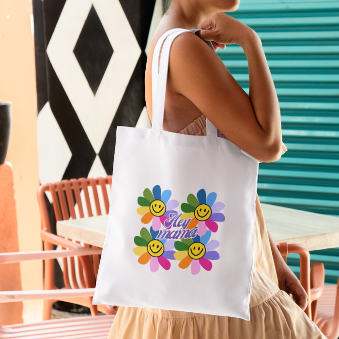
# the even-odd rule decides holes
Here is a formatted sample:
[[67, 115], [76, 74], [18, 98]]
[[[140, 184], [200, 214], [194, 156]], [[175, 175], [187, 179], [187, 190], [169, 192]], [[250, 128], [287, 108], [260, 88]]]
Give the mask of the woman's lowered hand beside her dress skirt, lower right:
[[[276, 264], [276, 261], [275, 261]], [[290, 267], [282, 260], [276, 264], [276, 271], [279, 283], [279, 289], [293, 295], [293, 300], [302, 309], [305, 310], [308, 304], [308, 295], [301, 286], [299, 279], [292, 272]]]

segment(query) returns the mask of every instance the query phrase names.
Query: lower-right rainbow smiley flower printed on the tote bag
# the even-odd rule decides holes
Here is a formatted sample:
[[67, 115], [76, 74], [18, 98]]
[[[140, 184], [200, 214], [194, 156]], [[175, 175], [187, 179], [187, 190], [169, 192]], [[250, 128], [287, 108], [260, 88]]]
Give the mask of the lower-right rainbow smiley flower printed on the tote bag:
[[180, 268], [187, 268], [191, 265], [191, 272], [195, 276], [200, 272], [200, 266], [206, 271], [211, 271], [211, 260], [218, 260], [219, 253], [214, 251], [219, 246], [217, 240], [210, 240], [211, 231], [206, 231], [203, 236], [197, 235], [193, 240], [191, 238], [181, 239], [174, 243], [178, 252], [174, 253], [174, 258], [179, 260]]

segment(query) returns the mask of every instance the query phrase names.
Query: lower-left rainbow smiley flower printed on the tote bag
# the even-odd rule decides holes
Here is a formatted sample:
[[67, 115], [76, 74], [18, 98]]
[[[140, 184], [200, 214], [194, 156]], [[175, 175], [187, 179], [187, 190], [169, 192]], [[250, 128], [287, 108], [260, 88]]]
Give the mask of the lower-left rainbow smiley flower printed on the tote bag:
[[159, 264], [165, 270], [170, 269], [170, 261], [175, 260], [172, 249], [174, 248], [175, 240], [155, 239], [159, 231], [154, 231], [152, 226], [150, 231], [143, 227], [140, 235], [134, 237], [134, 243], [138, 247], [134, 247], [133, 252], [139, 256], [138, 262], [141, 265], [146, 265], [150, 262], [151, 272], [156, 272], [159, 269]]

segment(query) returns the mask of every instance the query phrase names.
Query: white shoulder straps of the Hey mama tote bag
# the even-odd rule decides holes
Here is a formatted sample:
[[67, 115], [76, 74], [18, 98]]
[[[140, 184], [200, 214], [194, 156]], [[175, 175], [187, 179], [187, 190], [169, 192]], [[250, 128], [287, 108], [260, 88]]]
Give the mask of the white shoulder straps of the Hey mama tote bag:
[[[167, 75], [170, 60], [170, 47], [172, 46], [174, 39], [180, 34], [183, 34], [185, 32], [195, 33], [197, 31], [200, 30], [173, 29], [162, 35], [154, 48], [152, 61], [152, 107], [153, 107], [152, 129], [154, 131], [163, 129]], [[163, 48], [159, 67], [158, 65], [162, 46]], [[157, 71], [158, 68], [159, 71]], [[206, 118], [206, 130], [207, 136], [217, 137], [216, 127], [207, 118]]]

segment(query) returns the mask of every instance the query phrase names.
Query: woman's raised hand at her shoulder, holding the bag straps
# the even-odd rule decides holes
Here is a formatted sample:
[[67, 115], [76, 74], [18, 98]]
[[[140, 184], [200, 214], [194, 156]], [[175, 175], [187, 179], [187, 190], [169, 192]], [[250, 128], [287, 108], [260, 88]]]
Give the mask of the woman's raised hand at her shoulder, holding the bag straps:
[[218, 47], [225, 49], [226, 45], [232, 44], [243, 46], [247, 37], [253, 39], [256, 35], [248, 26], [223, 12], [209, 16], [198, 28], [201, 31], [196, 34], [203, 40], [211, 41], [215, 50]]

